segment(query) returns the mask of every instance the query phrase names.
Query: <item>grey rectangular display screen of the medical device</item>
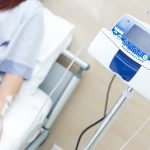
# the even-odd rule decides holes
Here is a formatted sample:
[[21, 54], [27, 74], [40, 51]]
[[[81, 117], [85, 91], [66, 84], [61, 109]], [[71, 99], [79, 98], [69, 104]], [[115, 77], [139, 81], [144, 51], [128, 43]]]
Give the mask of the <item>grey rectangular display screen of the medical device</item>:
[[125, 37], [139, 49], [150, 55], [150, 34], [134, 25]]

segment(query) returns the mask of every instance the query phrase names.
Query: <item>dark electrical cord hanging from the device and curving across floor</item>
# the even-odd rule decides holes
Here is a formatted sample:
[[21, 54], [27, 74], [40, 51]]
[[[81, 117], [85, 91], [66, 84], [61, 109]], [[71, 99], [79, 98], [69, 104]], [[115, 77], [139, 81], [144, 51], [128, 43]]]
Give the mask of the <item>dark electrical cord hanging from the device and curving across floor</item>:
[[81, 132], [81, 134], [80, 134], [80, 136], [79, 136], [79, 138], [78, 138], [78, 141], [77, 141], [75, 150], [78, 150], [79, 144], [80, 144], [80, 141], [81, 141], [81, 138], [82, 138], [82, 136], [85, 134], [85, 132], [87, 132], [89, 129], [91, 129], [91, 128], [94, 127], [95, 125], [99, 124], [100, 122], [102, 122], [102, 121], [105, 119], [105, 117], [107, 116], [107, 107], [108, 107], [108, 101], [109, 101], [109, 93], [110, 93], [111, 86], [112, 86], [112, 83], [113, 83], [115, 77], [116, 77], [116, 75], [113, 75], [113, 77], [112, 77], [112, 79], [111, 79], [111, 81], [110, 81], [110, 83], [109, 83], [108, 89], [107, 89], [107, 94], [106, 94], [106, 101], [105, 101], [105, 108], [104, 108], [104, 115], [103, 115], [103, 117], [102, 117], [101, 119], [99, 119], [98, 121], [96, 121], [96, 122], [92, 123], [91, 125], [89, 125], [87, 128], [85, 128], [85, 129]]

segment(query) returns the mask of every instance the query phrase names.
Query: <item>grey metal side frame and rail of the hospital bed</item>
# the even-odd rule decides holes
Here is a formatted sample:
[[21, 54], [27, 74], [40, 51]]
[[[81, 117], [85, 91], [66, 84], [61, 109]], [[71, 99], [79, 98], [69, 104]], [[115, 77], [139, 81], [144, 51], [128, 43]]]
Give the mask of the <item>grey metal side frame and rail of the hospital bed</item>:
[[[63, 55], [63, 57], [65, 57], [67, 61], [70, 62], [75, 57], [68, 50], [65, 50], [61, 55]], [[85, 63], [83, 60], [79, 58], [75, 59], [74, 65], [78, 67], [78, 70], [75, 72], [69, 70], [63, 82], [52, 94], [51, 99], [53, 101], [53, 106], [49, 114], [45, 118], [43, 126], [36, 133], [36, 135], [33, 135], [33, 140], [28, 145], [26, 150], [37, 150], [39, 146], [44, 143], [60, 111], [63, 109], [64, 105], [69, 100], [69, 97], [77, 87], [81, 79], [82, 72], [87, 71], [90, 68], [89, 64]], [[64, 67], [62, 64], [60, 64], [58, 61], [55, 62], [52, 68], [50, 69], [47, 77], [40, 85], [40, 89], [49, 94], [52, 91], [52, 89], [56, 86], [56, 84], [59, 82], [66, 69], [67, 68]]]

